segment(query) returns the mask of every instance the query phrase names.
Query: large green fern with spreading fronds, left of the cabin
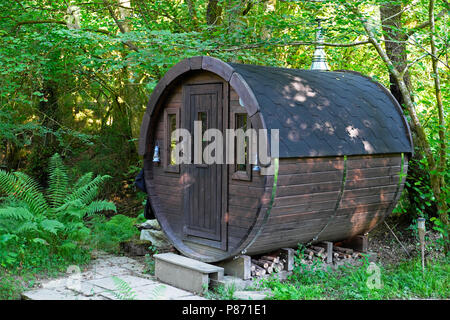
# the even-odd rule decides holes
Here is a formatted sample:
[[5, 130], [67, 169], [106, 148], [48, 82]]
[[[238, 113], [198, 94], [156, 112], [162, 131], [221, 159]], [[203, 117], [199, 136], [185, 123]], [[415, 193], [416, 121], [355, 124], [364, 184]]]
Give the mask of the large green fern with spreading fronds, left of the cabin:
[[70, 188], [67, 169], [58, 154], [50, 159], [49, 172], [49, 188], [44, 193], [25, 173], [0, 170], [0, 193], [8, 196], [7, 206], [0, 208], [0, 233], [18, 235], [34, 243], [57, 245], [89, 236], [85, 216], [116, 211], [114, 203], [95, 200], [101, 185], [110, 176], [92, 179], [93, 174], [87, 173]]

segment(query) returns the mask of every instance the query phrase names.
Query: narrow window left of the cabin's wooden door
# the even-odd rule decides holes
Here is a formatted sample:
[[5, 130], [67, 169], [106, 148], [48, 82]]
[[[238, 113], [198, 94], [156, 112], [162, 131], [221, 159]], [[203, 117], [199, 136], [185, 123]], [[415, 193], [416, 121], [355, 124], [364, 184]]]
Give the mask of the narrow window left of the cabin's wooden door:
[[180, 166], [176, 164], [175, 146], [178, 141], [172, 138], [172, 132], [178, 129], [179, 116], [178, 109], [168, 108], [164, 112], [165, 124], [165, 154], [164, 154], [164, 169], [168, 172], [180, 172]]

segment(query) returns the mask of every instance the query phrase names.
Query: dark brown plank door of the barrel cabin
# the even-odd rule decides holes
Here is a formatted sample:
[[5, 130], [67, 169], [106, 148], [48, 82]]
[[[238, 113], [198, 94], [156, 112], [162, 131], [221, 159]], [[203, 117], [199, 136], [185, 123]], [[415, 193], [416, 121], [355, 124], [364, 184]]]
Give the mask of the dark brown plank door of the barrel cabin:
[[[201, 134], [207, 129], [223, 132], [223, 86], [222, 84], [186, 85], [183, 87], [183, 127], [188, 129], [194, 144], [194, 121], [201, 121]], [[205, 164], [202, 151], [209, 142], [202, 141], [198, 158], [202, 163], [182, 165], [182, 174], [187, 183], [184, 186], [184, 235], [188, 240], [224, 249], [223, 212], [223, 168], [222, 164]]]

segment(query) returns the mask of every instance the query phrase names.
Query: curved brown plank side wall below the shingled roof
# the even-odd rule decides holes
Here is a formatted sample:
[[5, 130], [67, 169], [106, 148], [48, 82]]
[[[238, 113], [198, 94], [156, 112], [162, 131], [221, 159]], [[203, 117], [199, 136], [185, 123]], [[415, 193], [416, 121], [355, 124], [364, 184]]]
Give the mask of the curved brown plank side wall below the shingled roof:
[[[249, 253], [316, 241], [338, 241], [372, 230], [400, 196], [401, 154], [281, 159], [270, 218]], [[339, 197], [342, 192], [341, 197]], [[326, 226], [326, 227], [325, 227]], [[313, 241], [315, 242], [315, 241]]]

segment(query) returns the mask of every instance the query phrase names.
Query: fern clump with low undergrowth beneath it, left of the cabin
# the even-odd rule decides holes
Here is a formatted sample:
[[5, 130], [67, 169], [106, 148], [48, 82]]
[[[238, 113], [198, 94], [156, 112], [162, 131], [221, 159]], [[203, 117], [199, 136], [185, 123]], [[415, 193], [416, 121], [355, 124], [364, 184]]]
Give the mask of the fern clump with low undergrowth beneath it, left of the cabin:
[[0, 192], [8, 197], [0, 207], [0, 265], [3, 267], [19, 262], [26, 265], [27, 254], [38, 256], [32, 249], [62, 257], [80, 255], [79, 243], [86, 241], [90, 234], [84, 218], [105, 210], [116, 211], [113, 203], [95, 200], [108, 177], [92, 179], [87, 174], [71, 187], [58, 154], [50, 159], [49, 171], [49, 188], [44, 192], [26, 174], [0, 170]]

